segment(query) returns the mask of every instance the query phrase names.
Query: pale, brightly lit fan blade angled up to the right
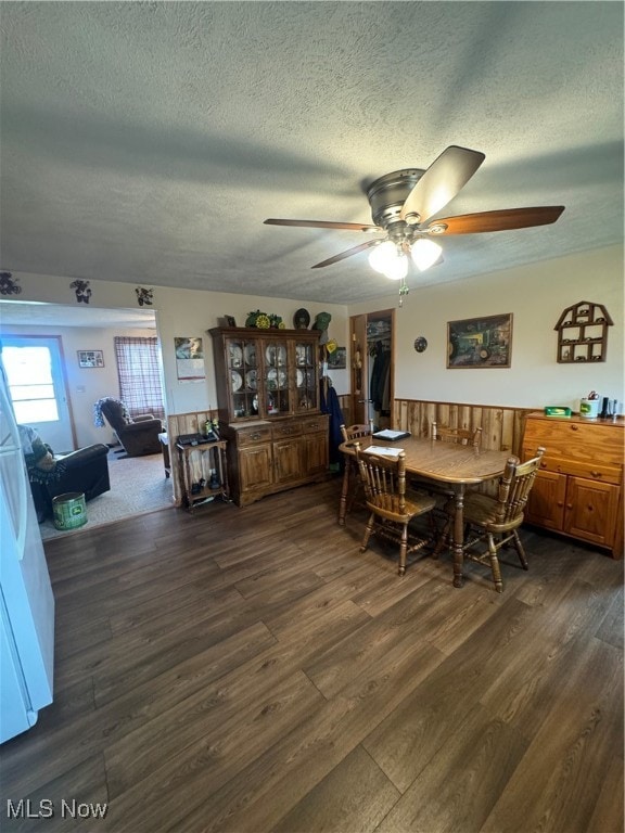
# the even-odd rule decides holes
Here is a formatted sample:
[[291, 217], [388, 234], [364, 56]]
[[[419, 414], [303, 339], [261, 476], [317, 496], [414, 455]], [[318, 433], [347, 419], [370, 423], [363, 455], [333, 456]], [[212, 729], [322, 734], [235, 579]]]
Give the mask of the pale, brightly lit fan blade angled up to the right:
[[411, 225], [425, 222], [456, 196], [485, 158], [480, 151], [450, 144], [410, 191], [399, 218]]

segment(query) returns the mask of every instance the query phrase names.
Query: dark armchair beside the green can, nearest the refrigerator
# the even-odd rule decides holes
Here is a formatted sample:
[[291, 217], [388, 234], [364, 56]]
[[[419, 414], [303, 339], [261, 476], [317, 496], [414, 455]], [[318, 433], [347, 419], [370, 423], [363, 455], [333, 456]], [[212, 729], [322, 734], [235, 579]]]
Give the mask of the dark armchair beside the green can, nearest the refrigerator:
[[111, 489], [109, 448], [103, 443], [54, 454], [34, 428], [20, 425], [18, 430], [39, 523], [52, 517], [52, 498], [59, 495], [78, 491], [89, 501]]

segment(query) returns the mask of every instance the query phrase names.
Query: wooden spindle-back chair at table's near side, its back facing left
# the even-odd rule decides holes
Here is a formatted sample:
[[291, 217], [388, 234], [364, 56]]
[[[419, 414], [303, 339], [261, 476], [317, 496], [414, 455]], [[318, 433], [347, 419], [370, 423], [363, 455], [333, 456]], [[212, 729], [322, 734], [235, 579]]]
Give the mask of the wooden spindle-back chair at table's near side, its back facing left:
[[406, 573], [409, 552], [417, 552], [432, 540], [432, 536], [418, 535], [409, 529], [410, 522], [430, 512], [436, 500], [429, 495], [406, 494], [406, 454], [396, 457], [374, 454], [354, 445], [360, 479], [370, 515], [360, 544], [360, 552], [369, 546], [371, 535], [380, 535], [399, 543], [398, 574]]

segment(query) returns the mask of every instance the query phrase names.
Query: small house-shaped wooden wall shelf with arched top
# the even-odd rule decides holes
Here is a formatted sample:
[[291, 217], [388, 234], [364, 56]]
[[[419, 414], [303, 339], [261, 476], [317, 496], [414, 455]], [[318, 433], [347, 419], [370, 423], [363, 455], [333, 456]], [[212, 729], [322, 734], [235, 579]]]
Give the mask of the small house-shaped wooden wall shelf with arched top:
[[558, 363], [605, 361], [611, 325], [602, 304], [581, 300], [566, 307], [553, 328], [558, 331]]

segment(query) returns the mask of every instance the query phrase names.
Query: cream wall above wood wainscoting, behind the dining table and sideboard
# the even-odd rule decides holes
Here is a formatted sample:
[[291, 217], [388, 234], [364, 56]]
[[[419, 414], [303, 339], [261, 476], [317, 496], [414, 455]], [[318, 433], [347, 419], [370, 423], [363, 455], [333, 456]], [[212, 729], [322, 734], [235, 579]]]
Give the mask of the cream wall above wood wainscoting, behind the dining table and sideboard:
[[[395, 315], [395, 396], [398, 399], [471, 405], [578, 409], [591, 389], [624, 399], [623, 248], [588, 252], [532, 266], [493, 272], [439, 286], [411, 289]], [[602, 304], [609, 328], [605, 362], [558, 364], [554, 325], [581, 300]], [[396, 296], [352, 305], [349, 313], [396, 306]], [[512, 312], [509, 369], [447, 369], [447, 322]], [[425, 353], [413, 348], [419, 335]]]

